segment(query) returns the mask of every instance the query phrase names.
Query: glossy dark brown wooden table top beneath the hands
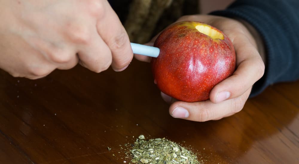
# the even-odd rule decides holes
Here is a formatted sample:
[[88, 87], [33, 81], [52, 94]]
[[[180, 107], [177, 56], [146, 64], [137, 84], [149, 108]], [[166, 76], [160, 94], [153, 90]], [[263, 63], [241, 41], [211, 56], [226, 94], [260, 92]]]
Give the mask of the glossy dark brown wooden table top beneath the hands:
[[39, 80], [0, 73], [0, 163], [123, 163], [120, 147], [140, 134], [191, 145], [204, 163], [299, 163], [299, 82], [270, 86], [231, 117], [192, 122], [169, 115], [148, 63]]

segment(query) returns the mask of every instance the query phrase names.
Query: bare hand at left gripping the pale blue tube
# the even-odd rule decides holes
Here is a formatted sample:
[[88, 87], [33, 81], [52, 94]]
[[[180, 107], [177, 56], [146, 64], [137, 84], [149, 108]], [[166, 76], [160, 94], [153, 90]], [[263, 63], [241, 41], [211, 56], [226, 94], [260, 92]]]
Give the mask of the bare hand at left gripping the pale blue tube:
[[125, 69], [128, 35], [106, 0], [0, 1], [0, 68], [41, 78], [79, 64], [94, 72]]

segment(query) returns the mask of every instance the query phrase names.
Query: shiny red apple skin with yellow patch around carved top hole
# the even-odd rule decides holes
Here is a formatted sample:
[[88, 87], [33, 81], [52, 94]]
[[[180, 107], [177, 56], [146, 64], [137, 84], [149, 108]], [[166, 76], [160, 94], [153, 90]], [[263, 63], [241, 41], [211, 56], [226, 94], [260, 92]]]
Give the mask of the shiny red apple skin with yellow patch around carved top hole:
[[[213, 39], [199, 32], [205, 25], [220, 32], [224, 39]], [[236, 54], [227, 35], [210, 25], [183, 21], [167, 27], [155, 40], [160, 48], [151, 58], [152, 72], [158, 88], [185, 102], [208, 100], [212, 88], [233, 74]]]

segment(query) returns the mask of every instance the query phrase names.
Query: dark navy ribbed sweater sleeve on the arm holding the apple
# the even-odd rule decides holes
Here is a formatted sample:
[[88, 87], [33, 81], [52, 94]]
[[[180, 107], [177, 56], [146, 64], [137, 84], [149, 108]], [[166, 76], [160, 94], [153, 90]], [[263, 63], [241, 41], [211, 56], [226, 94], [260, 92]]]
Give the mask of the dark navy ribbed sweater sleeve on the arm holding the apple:
[[250, 97], [267, 86], [299, 78], [299, 0], [237, 0], [226, 10], [211, 15], [241, 18], [263, 38], [267, 56], [264, 76]]

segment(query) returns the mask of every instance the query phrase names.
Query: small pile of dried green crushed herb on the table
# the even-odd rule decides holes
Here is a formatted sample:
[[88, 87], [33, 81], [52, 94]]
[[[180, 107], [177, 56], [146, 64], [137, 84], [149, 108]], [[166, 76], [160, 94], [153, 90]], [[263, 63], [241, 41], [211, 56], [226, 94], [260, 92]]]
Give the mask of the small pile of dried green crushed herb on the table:
[[199, 163], [192, 151], [165, 138], [145, 140], [140, 135], [131, 150], [132, 163], [138, 164], [196, 164]]

